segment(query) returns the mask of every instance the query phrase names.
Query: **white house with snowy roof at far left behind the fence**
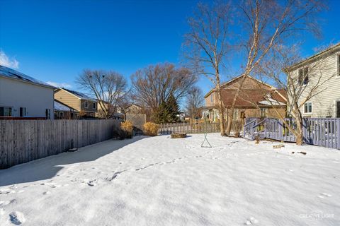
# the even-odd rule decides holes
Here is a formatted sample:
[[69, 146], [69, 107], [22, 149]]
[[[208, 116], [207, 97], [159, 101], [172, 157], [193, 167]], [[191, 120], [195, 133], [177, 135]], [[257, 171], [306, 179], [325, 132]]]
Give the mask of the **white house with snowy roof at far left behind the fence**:
[[0, 66], [0, 117], [54, 119], [54, 89], [52, 85]]

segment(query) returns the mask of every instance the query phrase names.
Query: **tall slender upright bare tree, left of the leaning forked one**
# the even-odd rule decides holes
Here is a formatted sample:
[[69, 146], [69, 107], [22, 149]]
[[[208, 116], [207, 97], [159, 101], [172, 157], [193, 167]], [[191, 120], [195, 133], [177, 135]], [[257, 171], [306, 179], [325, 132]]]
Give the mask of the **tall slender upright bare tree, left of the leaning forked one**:
[[188, 19], [190, 32], [185, 35], [185, 57], [198, 74], [206, 76], [214, 85], [220, 114], [221, 136], [225, 136], [225, 109], [221, 95], [221, 67], [228, 51], [231, 7], [222, 1], [212, 6], [198, 4]]

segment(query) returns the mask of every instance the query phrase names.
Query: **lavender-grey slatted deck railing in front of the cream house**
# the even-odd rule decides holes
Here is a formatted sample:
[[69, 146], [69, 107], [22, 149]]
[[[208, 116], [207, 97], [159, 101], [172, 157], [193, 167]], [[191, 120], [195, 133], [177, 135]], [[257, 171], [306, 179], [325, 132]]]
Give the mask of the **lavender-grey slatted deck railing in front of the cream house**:
[[[284, 119], [296, 129], [293, 119]], [[264, 138], [295, 142], [296, 138], [280, 119], [251, 119], [244, 125], [244, 136], [263, 133]], [[302, 121], [303, 142], [326, 148], [340, 149], [340, 118], [304, 118]], [[263, 125], [261, 129], [261, 125]]]

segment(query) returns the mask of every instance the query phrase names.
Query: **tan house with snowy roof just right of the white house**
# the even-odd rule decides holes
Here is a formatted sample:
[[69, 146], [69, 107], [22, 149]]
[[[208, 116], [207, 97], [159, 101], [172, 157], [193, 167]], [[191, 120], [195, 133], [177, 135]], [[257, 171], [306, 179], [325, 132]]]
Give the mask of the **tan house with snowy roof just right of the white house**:
[[80, 117], [95, 117], [97, 112], [97, 101], [91, 99], [84, 93], [65, 88], [55, 90], [55, 100], [79, 112]]

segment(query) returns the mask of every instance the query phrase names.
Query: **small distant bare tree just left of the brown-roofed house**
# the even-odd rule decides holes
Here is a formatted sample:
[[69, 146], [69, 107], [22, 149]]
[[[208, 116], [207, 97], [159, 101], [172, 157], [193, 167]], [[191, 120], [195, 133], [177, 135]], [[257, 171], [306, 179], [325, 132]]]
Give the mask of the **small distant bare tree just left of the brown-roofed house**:
[[202, 90], [198, 87], [194, 87], [186, 97], [186, 112], [191, 119], [199, 118], [202, 114], [203, 106], [204, 98]]

